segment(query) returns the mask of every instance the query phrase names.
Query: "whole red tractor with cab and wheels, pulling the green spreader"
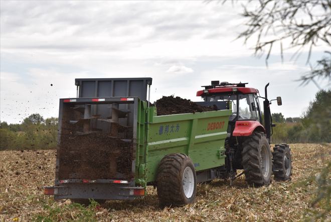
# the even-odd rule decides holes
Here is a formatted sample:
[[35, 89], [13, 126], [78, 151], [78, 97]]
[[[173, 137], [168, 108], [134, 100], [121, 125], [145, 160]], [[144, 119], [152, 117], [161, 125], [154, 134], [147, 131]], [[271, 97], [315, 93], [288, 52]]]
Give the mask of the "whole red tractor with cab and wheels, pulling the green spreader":
[[[204, 106], [217, 106], [218, 109], [232, 108], [229, 118], [228, 136], [225, 142], [226, 164], [218, 169], [218, 177], [230, 178], [230, 184], [238, 176], [245, 174], [250, 185], [268, 185], [271, 174], [277, 180], [289, 180], [291, 177], [291, 152], [287, 144], [276, 144], [270, 151], [272, 123], [270, 104], [273, 100], [259, 95], [259, 91], [246, 87], [247, 83], [228, 83], [212, 81], [212, 84], [198, 91]], [[258, 98], [263, 98], [263, 113]], [[281, 105], [281, 98], [277, 97]], [[224, 107], [226, 106], [226, 107]], [[244, 171], [237, 174], [237, 169]]]

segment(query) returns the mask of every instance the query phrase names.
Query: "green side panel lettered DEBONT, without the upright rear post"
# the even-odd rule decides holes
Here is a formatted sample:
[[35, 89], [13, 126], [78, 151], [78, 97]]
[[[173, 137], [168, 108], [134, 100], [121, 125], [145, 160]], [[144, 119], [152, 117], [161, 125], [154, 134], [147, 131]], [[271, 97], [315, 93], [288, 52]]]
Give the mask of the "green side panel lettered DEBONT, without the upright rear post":
[[170, 153], [185, 153], [196, 171], [222, 166], [231, 110], [152, 116], [147, 139], [147, 181], [154, 181], [159, 161]]

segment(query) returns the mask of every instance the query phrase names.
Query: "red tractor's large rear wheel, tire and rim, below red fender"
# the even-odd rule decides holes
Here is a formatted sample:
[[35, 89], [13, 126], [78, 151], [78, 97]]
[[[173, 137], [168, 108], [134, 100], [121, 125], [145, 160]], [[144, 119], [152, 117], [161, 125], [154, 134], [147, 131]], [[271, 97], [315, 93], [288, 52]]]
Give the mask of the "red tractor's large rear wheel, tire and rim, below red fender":
[[268, 185], [271, 180], [272, 160], [268, 140], [262, 132], [254, 132], [242, 144], [242, 165], [249, 185]]

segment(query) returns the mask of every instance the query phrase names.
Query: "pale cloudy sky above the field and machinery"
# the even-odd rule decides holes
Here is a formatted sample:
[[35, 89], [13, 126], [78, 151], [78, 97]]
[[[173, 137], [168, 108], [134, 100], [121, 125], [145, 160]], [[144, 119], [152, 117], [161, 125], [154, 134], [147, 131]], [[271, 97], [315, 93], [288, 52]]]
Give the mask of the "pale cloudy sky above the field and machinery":
[[[254, 7], [254, 6], [252, 6]], [[60, 98], [76, 97], [75, 78], [152, 77], [151, 102], [196, 92], [212, 80], [248, 82], [269, 98], [271, 112], [301, 116], [318, 88], [296, 81], [309, 71], [307, 52], [254, 57], [240, 4], [205, 1], [0, 2], [0, 120], [20, 123], [33, 113], [57, 117]], [[317, 45], [310, 60], [326, 47]], [[318, 82], [323, 88], [323, 83]]]

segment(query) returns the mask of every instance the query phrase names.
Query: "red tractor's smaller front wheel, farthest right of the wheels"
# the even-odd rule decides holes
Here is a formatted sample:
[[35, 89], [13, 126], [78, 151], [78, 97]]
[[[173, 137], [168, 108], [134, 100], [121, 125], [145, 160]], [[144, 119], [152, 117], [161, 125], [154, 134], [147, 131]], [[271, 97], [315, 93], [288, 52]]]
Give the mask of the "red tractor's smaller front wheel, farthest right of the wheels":
[[276, 144], [272, 153], [272, 171], [276, 180], [289, 180], [292, 175], [292, 157], [288, 145]]

